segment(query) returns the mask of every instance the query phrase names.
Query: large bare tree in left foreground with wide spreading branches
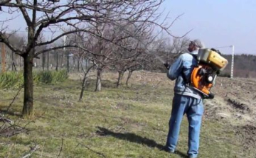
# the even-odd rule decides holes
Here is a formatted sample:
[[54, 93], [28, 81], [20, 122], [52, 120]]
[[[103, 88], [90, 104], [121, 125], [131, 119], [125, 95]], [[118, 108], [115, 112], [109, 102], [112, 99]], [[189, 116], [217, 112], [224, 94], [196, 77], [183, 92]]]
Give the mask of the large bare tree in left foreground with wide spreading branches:
[[[55, 3], [53, 3], [55, 2]], [[162, 0], [117, 0], [117, 1], [82, 1], [82, 0], [69, 0], [62, 1], [9, 1], [1, 0], [0, 6], [9, 19], [1, 19], [0, 21], [0, 42], [5, 43], [16, 55], [23, 57], [24, 64], [24, 101], [23, 101], [23, 115], [31, 115], [33, 112], [33, 59], [43, 52], [51, 50], [67, 49], [70, 47], [78, 47], [78, 45], [63, 45], [56, 47], [48, 47], [46, 50], [37, 51], [36, 47], [43, 45], [50, 45], [64, 35], [72, 33], [86, 32], [98, 38], [98, 43], [114, 43], [110, 38], [105, 38], [103, 35], [88, 28], [88, 24], [95, 26], [107, 23], [108, 25], [117, 25], [117, 22], [124, 21], [129, 23], [154, 23], [156, 26], [162, 26], [156, 23], [156, 10]], [[4, 6], [4, 7], [2, 7]], [[8, 35], [8, 21], [16, 21], [13, 18], [18, 13], [21, 13], [27, 26], [27, 41], [24, 49], [15, 47], [10, 43]], [[3, 14], [3, 15], [4, 15]], [[168, 32], [169, 26], [162, 26]], [[52, 31], [52, 37], [46, 42], [41, 41], [44, 31]], [[60, 30], [63, 32], [60, 33]], [[169, 32], [168, 32], [169, 33]], [[98, 44], [100, 45], [100, 44]], [[105, 49], [105, 47], [104, 47]], [[100, 51], [102, 55], [107, 51]], [[98, 77], [100, 78], [101, 65], [97, 66]]]

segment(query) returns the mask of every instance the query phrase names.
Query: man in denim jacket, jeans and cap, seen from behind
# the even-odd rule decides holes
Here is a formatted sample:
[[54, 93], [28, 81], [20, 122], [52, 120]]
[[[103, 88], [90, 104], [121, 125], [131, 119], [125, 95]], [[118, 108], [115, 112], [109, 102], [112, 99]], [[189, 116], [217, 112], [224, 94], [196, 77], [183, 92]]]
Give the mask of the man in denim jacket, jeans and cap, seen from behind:
[[[178, 142], [181, 120], [186, 113], [188, 118], [188, 157], [198, 156], [199, 135], [201, 119], [203, 116], [203, 101], [201, 94], [188, 85], [193, 68], [196, 67], [196, 55], [203, 47], [200, 40], [193, 40], [188, 46], [188, 52], [183, 53], [167, 73], [169, 79], [176, 79], [174, 86], [174, 99], [172, 103], [171, 118], [169, 120], [169, 133], [166, 142], [166, 151], [174, 153]], [[167, 67], [167, 64], [165, 64]]]

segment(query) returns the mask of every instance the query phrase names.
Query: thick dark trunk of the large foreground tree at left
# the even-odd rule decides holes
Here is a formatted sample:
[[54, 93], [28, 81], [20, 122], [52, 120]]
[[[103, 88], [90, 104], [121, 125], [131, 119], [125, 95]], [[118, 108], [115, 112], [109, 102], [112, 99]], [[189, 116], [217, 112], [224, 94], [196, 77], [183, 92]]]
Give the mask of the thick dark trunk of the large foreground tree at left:
[[[31, 50], [33, 51], [33, 50]], [[24, 59], [24, 101], [22, 115], [31, 115], [33, 112], [33, 57], [26, 55]]]

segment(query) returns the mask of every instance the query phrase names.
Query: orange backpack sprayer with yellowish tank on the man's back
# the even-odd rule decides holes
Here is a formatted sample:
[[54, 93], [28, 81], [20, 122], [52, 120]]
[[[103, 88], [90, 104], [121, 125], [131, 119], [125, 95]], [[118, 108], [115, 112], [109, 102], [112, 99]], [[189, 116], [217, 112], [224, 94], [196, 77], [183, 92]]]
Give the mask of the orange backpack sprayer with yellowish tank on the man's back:
[[210, 89], [215, 84], [217, 75], [225, 69], [228, 60], [220, 55], [215, 49], [200, 49], [196, 57], [198, 66], [193, 69], [191, 83], [193, 89], [203, 94], [203, 98], [214, 98]]

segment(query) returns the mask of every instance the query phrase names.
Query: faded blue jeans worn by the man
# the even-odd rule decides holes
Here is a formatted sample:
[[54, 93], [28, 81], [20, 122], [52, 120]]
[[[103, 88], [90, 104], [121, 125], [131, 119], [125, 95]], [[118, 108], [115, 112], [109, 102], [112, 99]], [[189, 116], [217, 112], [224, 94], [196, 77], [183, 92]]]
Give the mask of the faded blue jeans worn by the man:
[[199, 135], [203, 116], [203, 100], [191, 96], [175, 94], [169, 121], [169, 133], [167, 136], [166, 149], [174, 152], [178, 142], [183, 115], [188, 118], [188, 155], [197, 157], [199, 148]]

